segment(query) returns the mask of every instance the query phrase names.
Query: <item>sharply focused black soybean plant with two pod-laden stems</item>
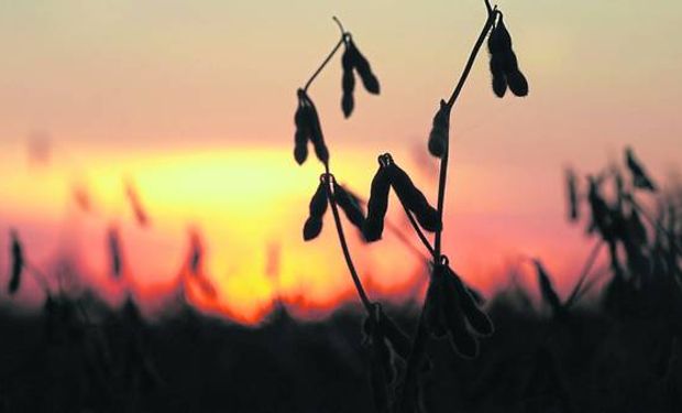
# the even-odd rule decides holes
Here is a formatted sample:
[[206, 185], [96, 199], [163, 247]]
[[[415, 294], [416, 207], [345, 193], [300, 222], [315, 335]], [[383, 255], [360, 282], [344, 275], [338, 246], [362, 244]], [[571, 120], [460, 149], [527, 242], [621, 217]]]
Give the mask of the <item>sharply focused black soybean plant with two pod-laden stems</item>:
[[[355, 107], [355, 75], [360, 77], [370, 94], [378, 95], [381, 89], [369, 61], [355, 45], [352, 34], [344, 30], [337, 18], [334, 21], [341, 31], [339, 42], [305, 86], [297, 90], [298, 107], [294, 117], [296, 126], [294, 157], [298, 164], [306, 162], [308, 143], [310, 143], [317, 159], [323, 165], [318, 188], [310, 200], [310, 214], [304, 225], [302, 236], [306, 241], [309, 241], [320, 233], [322, 218], [329, 205], [349, 273], [366, 311], [366, 318], [363, 323], [363, 344], [367, 349], [370, 382], [374, 405], [378, 412], [415, 412], [419, 409], [419, 404], [422, 404], [419, 377], [425, 370], [429, 370], [433, 362], [438, 362], [438, 360], [430, 360], [427, 355], [426, 345], [429, 339], [447, 337], [452, 349], [461, 357], [475, 358], [479, 355], [479, 339], [493, 334], [491, 319], [479, 307], [470, 289], [452, 269], [441, 248], [451, 112], [486, 37], [495, 95], [502, 98], [507, 88], [516, 96], [528, 94], [528, 81], [518, 68], [518, 62], [512, 48], [512, 37], [503, 21], [503, 14], [496, 7], [491, 7], [487, 0], [485, 7], [487, 17], [481, 34], [450, 98], [447, 101], [440, 100], [428, 138], [428, 151], [440, 161], [436, 207], [431, 206], [421, 191], [415, 186], [408, 173], [398, 166], [389, 153], [378, 156], [378, 170], [372, 180], [366, 216], [361, 209], [358, 197], [339, 185], [332, 174], [330, 153], [324, 142], [319, 113], [309, 95], [310, 86], [343, 46], [341, 57], [343, 115], [349, 118]], [[418, 239], [430, 254], [429, 287], [416, 333], [411, 339], [385, 314], [380, 303], [367, 296], [345, 240], [339, 214], [340, 208], [345, 213], [349, 221], [362, 231], [366, 242], [378, 241], [384, 230], [391, 189], [396, 194]], [[435, 233], [432, 244], [424, 231]], [[400, 359], [405, 365], [400, 373], [397, 372], [396, 359]]]

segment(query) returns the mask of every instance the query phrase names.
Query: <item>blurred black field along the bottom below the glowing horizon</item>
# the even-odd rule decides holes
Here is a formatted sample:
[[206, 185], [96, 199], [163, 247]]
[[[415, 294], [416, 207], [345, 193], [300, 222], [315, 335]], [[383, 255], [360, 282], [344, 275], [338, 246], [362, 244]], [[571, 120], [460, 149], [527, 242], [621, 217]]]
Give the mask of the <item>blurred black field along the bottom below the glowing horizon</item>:
[[[519, 291], [487, 303], [496, 332], [474, 360], [430, 343], [428, 412], [682, 411], [679, 319], [596, 306], [557, 319], [529, 304]], [[0, 411], [374, 411], [356, 309], [299, 323], [280, 308], [248, 328], [188, 307], [153, 324], [132, 305], [84, 307], [89, 325], [73, 305], [0, 314]], [[411, 333], [416, 309], [387, 312]]]

